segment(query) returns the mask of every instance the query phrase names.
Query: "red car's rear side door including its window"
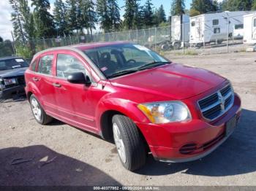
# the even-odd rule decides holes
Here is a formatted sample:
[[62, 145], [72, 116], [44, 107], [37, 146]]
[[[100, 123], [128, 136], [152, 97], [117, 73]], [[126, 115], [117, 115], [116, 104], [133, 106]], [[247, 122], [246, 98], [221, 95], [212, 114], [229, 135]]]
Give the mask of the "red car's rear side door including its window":
[[39, 90], [39, 101], [47, 113], [56, 113], [55, 88], [53, 87], [53, 62], [55, 55], [53, 52], [43, 54], [39, 58], [37, 72], [32, 80]]

